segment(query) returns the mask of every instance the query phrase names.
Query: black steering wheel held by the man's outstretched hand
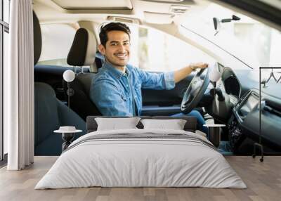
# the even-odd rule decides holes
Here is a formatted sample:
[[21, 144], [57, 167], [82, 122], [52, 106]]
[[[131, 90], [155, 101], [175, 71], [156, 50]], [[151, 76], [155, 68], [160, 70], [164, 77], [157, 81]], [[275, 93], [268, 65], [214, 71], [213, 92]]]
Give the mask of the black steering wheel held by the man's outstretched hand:
[[211, 67], [207, 68], [207, 73], [204, 78], [201, 79], [201, 75], [206, 70], [206, 68], [202, 68], [199, 72], [195, 74], [192, 78], [188, 89], [186, 89], [183, 100], [181, 100], [181, 111], [185, 114], [191, 112], [193, 108], [197, 106], [200, 100], [203, 98], [204, 93], [209, 85], [209, 73]]

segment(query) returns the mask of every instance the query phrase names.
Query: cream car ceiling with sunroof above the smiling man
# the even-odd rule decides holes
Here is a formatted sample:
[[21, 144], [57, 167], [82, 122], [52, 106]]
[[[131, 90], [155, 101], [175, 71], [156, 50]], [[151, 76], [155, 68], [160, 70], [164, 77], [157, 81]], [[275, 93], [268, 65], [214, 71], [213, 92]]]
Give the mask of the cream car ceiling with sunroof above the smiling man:
[[[106, 2], [106, 4], [105, 4]], [[112, 19], [112, 17], [123, 17], [136, 19], [134, 22], [143, 24], [153, 22], [157, 16], [158, 22], [165, 23], [167, 15], [176, 21], [181, 18], [182, 13], [172, 11], [172, 6], [191, 8], [193, 6], [203, 8], [209, 4], [208, 1], [193, 0], [34, 0], [33, 8], [41, 23], [53, 22], [77, 22], [79, 20], [92, 20], [95, 22]], [[151, 14], [152, 13], [152, 14]], [[151, 14], [151, 15], [150, 15]]]

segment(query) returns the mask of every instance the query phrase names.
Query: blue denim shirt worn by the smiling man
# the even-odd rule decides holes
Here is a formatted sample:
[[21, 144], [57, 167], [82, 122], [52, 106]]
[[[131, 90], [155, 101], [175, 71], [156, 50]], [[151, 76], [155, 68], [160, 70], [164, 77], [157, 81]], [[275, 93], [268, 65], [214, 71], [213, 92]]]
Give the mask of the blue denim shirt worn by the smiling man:
[[[93, 77], [90, 98], [103, 116], [141, 115], [143, 89], [173, 89], [174, 72], [151, 73], [126, 65], [123, 73], [105, 62]], [[136, 112], [133, 111], [133, 99]]]

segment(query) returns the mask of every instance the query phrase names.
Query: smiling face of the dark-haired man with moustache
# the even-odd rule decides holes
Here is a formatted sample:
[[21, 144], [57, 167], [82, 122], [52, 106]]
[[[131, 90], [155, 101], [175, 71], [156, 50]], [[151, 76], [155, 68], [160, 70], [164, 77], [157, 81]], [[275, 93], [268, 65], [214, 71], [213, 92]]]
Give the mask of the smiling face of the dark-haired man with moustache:
[[107, 42], [105, 46], [100, 44], [100, 53], [116, 67], [124, 67], [130, 56], [130, 37], [126, 32], [107, 32]]

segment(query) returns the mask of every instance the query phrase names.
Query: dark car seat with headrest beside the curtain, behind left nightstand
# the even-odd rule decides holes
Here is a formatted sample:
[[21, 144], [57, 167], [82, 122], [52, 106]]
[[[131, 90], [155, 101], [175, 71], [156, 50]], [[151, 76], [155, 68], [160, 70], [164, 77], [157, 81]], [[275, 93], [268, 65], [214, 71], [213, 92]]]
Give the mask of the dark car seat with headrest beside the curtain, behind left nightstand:
[[[33, 23], [35, 65], [41, 54], [41, 30], [34, 12]], [[34, 155], [60, 155], [63, 140], [60, 134], [53, 134], [60, 126], [83, 130], [75, 138], [86, 134], [86, 122], [55, 97], [53, 88], [43, 82], [34, 82]]]

